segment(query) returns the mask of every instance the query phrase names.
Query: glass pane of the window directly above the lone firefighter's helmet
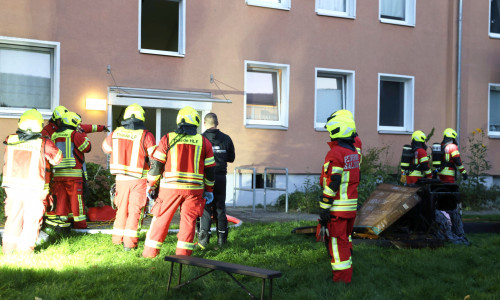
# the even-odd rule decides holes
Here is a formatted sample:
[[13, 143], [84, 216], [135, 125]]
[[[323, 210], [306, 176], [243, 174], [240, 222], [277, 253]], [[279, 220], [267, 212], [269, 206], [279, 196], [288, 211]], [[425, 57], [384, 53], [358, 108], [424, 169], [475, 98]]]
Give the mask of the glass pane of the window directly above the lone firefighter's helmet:
[[316, 122], [326, 122], [332, 112], [344, 108], [343, 77], [319, 73], [316, 87]]

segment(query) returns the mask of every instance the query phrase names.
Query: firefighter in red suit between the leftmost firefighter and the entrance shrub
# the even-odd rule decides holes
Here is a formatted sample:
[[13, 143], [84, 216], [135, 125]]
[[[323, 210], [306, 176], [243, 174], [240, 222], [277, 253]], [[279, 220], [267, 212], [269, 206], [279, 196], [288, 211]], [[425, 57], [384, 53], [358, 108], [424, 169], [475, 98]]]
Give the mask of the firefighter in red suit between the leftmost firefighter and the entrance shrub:
[[69, 213], [73, 214], [73, 227], [87, 228], [84, 180], [87, 177], [84, 153], [90, 152], [87, 135], [77, 130], [82, 122], [74, 112], [62, 116], [62, 126], [52, 134], [52, 141], [63, 153], [63, 161], [54, 167], [52, 193], [57, 199], [56, 218], [47, 219], [47, 224], [56, 228], [68, 228]]

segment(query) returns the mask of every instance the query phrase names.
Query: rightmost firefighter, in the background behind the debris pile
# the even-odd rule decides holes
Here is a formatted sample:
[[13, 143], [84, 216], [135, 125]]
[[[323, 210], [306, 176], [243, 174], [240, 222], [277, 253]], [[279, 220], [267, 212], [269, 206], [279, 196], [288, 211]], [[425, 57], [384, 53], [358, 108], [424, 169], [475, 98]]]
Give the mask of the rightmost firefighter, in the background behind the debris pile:
[[457, 146], [457, 132], [451, 128], [446, 128], [443, 132], [441, 149], [443, 158], [441, 169], [438, 172], [439, 180], [443, 183], [455, 183], [455, 168], [462, 174], [462, 178], [467, 180], [467, 171], [462, 165], [460, 152]]

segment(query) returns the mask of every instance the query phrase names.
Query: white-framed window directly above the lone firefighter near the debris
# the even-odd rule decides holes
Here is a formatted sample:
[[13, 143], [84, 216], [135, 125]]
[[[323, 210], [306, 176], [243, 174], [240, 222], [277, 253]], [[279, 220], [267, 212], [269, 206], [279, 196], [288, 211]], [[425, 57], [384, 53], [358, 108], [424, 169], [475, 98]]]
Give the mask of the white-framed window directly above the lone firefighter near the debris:
[[339, 109], [354, 112], [354, 71], [316, 68], [314, 129], [325, 131], [326, 119]]

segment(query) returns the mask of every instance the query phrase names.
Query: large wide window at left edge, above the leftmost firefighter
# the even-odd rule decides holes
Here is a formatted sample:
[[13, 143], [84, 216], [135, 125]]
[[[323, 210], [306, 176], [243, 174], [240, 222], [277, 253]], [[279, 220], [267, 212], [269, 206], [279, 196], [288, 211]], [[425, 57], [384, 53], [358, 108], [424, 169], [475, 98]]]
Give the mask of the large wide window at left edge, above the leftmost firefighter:
[[59, 43], [0, 36], [0, 116], [59, 105]]

